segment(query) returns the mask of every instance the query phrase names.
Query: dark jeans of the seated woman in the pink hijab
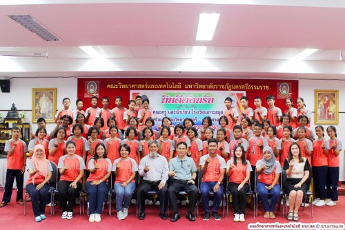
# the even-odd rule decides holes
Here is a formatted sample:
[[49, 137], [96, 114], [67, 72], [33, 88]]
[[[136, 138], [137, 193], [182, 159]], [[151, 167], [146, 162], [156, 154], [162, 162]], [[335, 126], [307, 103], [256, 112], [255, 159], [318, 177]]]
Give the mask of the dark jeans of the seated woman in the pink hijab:
[[36, 189], [37, 185], [28, 184], [26, 185], [26, 191], [31, 196], [32, 210], [34, 211], [34, 216], [43, 215], [46, 210], [46, 204], [48, 199], [48, 191], [50, 189], [49, 183], [43, 185], [41, 189]]

